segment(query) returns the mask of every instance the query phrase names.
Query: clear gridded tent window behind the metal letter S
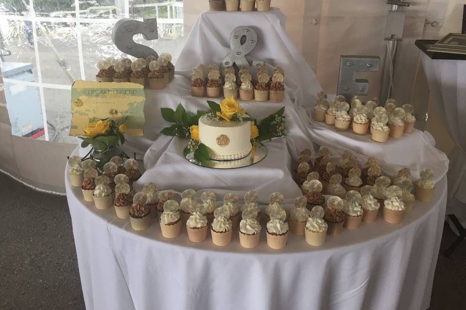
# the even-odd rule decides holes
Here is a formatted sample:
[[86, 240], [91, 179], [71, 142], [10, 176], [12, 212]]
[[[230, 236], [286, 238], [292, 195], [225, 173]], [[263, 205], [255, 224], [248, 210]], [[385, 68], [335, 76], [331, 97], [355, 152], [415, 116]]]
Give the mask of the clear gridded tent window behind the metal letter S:
[[32, 139], [79, 142], [68, 136], [71, 84], [95, 80], [100, 59], [126, 56], [112, 42], [118, 19], [157, 17], [158, 40], [134, 39], [174, 61], [184, 44], [183, 0], [4, 0], [0, 17], [12, 134]]

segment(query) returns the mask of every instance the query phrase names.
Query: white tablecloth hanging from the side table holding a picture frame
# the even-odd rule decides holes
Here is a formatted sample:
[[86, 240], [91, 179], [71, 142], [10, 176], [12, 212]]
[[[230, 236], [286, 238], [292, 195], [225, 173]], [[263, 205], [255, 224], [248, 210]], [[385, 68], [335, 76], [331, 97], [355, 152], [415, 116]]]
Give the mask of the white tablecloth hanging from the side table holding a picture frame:
[[422, 55], [435, 109], [455, 147], [449, 155], [449, 212], [466, 220], [466, 61], [433, 60]]

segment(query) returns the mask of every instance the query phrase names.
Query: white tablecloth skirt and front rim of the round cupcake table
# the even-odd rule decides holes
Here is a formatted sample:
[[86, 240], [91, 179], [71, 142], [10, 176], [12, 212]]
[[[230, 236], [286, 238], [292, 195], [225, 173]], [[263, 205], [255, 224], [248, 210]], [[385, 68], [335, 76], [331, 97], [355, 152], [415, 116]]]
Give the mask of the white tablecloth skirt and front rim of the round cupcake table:
[[[88, 310], [143, 309], [427, 309], [442, 236], [447, 180], [433, 202], [416, 201], [399, 225], [379, 217], [358, 230], [309, 246], [290, 233], [283, 250], [242, 248], [185, 231], [165, 239], [153, 219], [131, 229], [115, 209], [84, 202], [65, 176], [83, 295]], [[288, 206], [289, 207], [289, 206]]]

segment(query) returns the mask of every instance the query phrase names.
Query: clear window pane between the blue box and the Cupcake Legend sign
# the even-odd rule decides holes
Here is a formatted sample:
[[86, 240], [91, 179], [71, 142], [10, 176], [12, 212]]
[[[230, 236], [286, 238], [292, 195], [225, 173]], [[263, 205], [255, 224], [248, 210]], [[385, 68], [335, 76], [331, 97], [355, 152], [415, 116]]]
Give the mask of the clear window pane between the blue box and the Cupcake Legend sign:
[[44, 88], [44, 99], [49, 140], [79, 143], [78, 138], [68, 136], [71, 123], [71, 90]]

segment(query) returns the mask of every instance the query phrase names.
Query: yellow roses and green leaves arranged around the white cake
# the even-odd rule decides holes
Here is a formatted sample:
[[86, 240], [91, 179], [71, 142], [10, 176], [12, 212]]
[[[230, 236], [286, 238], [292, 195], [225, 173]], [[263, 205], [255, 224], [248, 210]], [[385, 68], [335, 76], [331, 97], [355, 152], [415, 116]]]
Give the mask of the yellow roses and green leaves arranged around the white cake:
[[286, 135], [287, 123], [283, 113], [285, 108], [282, 107], [272, 115], [267, 116], [261, 124], [249, 117], [244, 117], [245, 109], [242, 109], [233, 97], [225, 98], [219, 104], [214, 101], [207, 101], [210, 109], [198, 110], [196, 114], [186, 111], [181, 103], [176, 110], [161, 108], [162, 117], [172, 124], [162, 129], [161, 133], [166, 136], [190, 138], [188, 145], [184, 148], [183, 155], [187, 158], [194, 159], [203, 164], [210, 160], [209, 151], [205, 144], [199, 140], [199, 119], [206, 115], [211, 121], [226, 122], [247, 122], [251, 124], [251, 144], [253, 150], [257, 143], [262, 143], [272, 138]]

